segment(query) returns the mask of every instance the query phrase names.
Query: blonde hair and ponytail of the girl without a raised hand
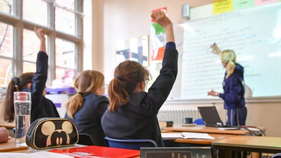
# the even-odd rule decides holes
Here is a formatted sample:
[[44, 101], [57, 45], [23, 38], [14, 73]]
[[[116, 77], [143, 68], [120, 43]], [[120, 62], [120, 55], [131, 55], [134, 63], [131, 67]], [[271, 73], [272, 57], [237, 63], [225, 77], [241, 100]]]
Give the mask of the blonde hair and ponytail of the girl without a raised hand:
[[[76, 111], [82, 106], [83, 97], [81, 93], [95, 92], [104, 84], [102, 73], [94, 70], [83, 71], [74, 82], [77, 94], [72, 96], [66, 103], [67, 116], [73, 118]], [[81, 92], [81, 93], [79, 93]]]

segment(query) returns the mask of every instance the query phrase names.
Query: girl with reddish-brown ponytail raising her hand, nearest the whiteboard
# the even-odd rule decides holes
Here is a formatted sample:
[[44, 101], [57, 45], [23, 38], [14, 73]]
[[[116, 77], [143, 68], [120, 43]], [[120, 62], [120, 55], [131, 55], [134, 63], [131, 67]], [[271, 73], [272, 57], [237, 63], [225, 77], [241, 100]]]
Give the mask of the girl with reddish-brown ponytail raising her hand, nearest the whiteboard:
[[109, 83], [110, 104], [102, 116], [105, 135], [117, 139], [151, 139], [163, 147], [157, 113], [167, 99], [178, 71], [178, 52], [173, 25], [164, 12], [151, 14], [166, 29], [166, 49], [160, 75], [145, 92], [149, 80], [147, 69], [134, 61], [121, 62]]

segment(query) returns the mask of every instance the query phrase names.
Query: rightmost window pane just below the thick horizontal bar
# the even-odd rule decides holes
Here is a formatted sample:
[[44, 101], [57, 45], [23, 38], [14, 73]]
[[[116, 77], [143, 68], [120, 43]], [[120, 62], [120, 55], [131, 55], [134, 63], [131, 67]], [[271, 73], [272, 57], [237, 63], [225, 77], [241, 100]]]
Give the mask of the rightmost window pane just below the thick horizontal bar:
[[75, 43], [56, 39], [56, 66], [75, 68]]

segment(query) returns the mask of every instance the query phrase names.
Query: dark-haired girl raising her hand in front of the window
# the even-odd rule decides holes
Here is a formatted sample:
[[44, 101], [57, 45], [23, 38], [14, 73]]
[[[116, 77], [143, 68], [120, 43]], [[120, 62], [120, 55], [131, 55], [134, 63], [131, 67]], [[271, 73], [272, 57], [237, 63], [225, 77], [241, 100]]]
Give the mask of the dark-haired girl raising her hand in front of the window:
[[48, 73], [48, 55], [46, 54], [45, 31], [43, 28], [34, 28], [40, 39], [40, 49], [36, 60], [36, 73], [23, 73], [14, 77], [7, 87], [4, 103], [5, 121], [14, 121], [14, 92], [31, 92], [31, 123], [43, 117], [60, 117], [54, 103], [45, 98]]

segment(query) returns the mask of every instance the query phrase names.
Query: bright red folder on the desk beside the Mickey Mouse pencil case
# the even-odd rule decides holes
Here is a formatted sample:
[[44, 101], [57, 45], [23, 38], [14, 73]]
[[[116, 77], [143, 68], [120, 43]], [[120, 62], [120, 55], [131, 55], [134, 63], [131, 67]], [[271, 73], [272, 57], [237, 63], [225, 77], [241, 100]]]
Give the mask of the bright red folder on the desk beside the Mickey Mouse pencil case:
[[129, 158], [140, 155], [139, 150], [110, 148], [103, 146], [85, 146], [71, 149], [53, 149], [49, 152], [59, 153], [75, 158]]

